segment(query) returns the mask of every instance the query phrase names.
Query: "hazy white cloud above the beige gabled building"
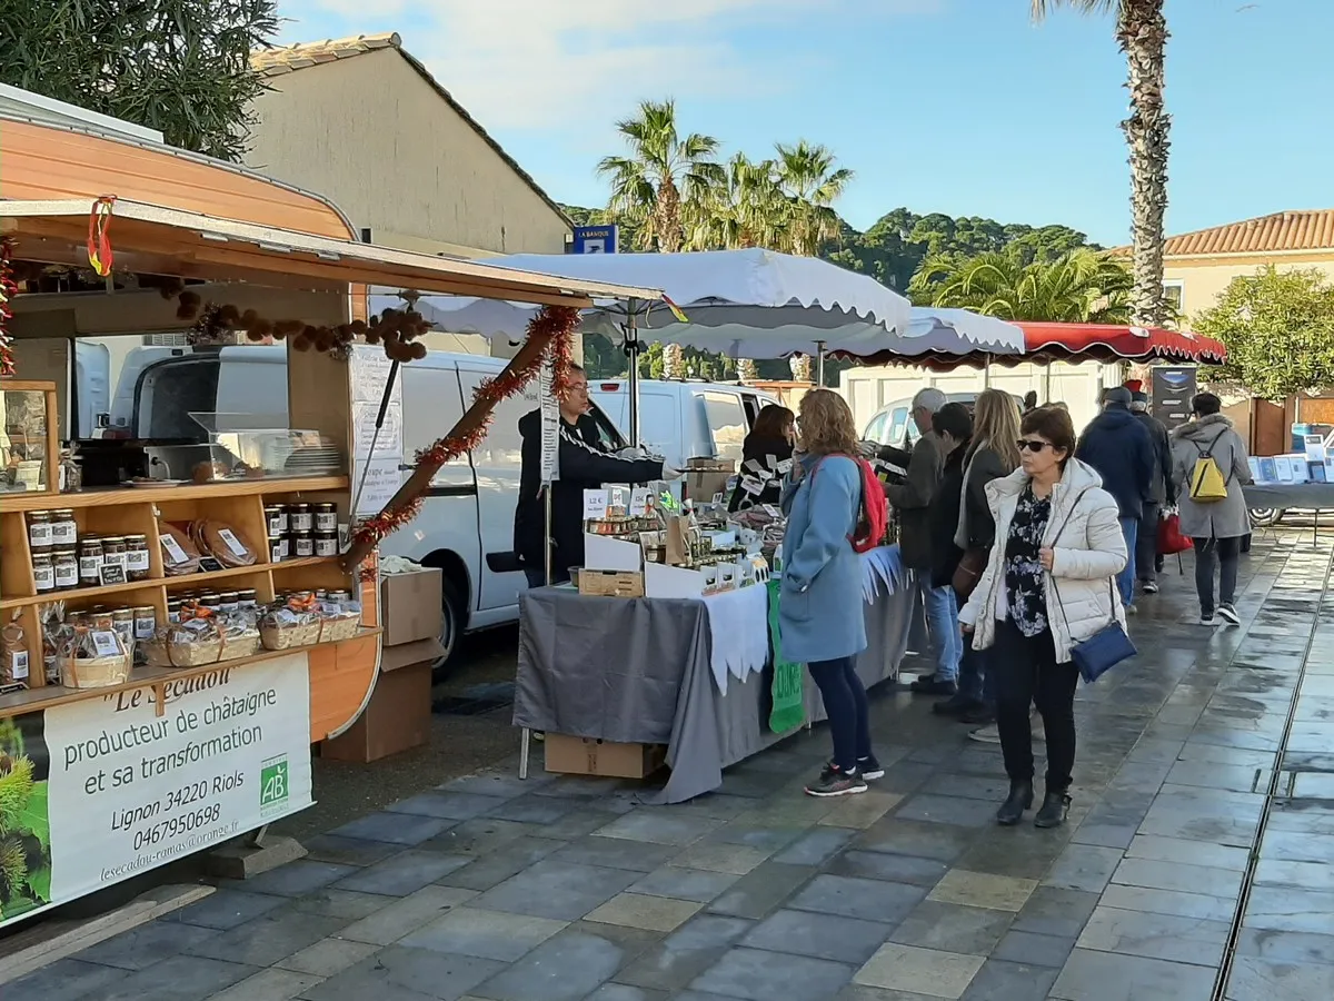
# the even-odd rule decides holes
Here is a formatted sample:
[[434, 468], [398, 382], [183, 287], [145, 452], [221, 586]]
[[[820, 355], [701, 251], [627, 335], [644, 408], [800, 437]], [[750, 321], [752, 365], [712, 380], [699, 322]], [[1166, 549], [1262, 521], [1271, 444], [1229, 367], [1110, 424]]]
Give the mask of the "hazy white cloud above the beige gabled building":
[[[736, 44], [759, 25], [935, 9], [942, 0], [284, 0], [284, 41], [398, 31], [492, 129], [568, 132], [642, 97], [775, 96], [796, 85], [794, 56]], [[815, 53], [820, 55], [820, 53]]]

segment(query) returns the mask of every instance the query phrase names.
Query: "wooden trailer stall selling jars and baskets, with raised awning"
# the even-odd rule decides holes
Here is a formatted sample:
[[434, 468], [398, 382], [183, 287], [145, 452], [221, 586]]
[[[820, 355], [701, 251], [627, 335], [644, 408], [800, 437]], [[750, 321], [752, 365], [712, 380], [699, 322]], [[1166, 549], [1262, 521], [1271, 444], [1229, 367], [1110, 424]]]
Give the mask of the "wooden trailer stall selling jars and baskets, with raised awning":
[[[655, 296], [358, 243], [327, 203], [229, 164], [9, 125], [0, 925], [308, 806], [311, 745], [374, 698], [386, 626], [374, 547], [415, 510], [411, 498], [380, 510], [412, 468], [386, 411], [426, 326], [406, 310], [367, 322], [356, 287], [550, 307], [440, 428], [426, 467], [466, 451], [544, 358], [560, 371], [579, 308]], [[41, 164], [64, 147], [53, 180]], [[108, 178], [168, 204], [104, 194]], [[269, 415], [221, 414], [195, 410], [197, 384], [160, 387], [155, 422], [171, 434], [68, 440], [80, 380], [61, 346], [156, 331], [285, 343], [287, 399]]]

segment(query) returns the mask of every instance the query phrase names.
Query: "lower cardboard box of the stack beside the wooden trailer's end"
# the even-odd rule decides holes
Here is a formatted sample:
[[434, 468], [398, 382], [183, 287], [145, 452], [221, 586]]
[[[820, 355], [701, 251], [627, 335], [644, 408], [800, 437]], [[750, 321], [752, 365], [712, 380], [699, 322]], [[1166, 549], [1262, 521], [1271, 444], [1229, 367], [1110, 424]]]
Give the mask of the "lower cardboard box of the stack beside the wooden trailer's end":
[[332, 761], [379, 761], [431, 741], [431, 665], [444, 654], [436, 638], [387, 646], [380, 677], [366, 711], [352, 726], [320, 745]]

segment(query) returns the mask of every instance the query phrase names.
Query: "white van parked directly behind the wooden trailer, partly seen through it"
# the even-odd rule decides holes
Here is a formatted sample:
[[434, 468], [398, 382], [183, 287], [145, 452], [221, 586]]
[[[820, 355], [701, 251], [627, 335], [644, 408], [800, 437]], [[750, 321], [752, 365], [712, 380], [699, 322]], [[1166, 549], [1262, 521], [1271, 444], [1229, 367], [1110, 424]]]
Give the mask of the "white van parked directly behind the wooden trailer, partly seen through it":
[[[177, 348], [179, 350], [179, 348]], [[403, 454], [440, 438], [460, 416], [483, 379], [500, 372], [503, 358], [431, 351], [399, 371], [403, 379]], [[287, 420], [287, 350], [237, 344], [159, 359], [132, 378], [133, 424], [139, 436], [201, 438], [187, 411], [265, 414]], [[495, 408], [486, 440], [447, 463], [431, 482], [422, 513], [380, 547], [444, 571], [446, 659], [463, 633], [515, 622], [519, 571], [507, 566], [514, 551], [514, 509], [519, 496], [519, 418], [538, 406], [538, 384]], [[624, 440], [594, 407], [611, 448]], [[444, 662], [442, 661], [442, 665]]]

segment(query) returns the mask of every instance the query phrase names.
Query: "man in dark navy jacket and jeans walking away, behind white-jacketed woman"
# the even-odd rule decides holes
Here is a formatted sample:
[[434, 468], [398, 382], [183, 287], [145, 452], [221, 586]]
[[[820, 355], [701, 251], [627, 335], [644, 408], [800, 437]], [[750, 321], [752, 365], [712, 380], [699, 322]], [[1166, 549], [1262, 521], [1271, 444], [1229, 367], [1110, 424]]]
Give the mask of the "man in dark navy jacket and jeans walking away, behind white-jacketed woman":
[[1154, 443], [1149, 431], [1130, 412], [1130, 390], [1117, 386], [1103, 396], [1102, 414], [1089, 422], [1075, 458], [1087, 462], [1102, 476], [1102, 487], [1121, 507], [1121, 531], [1130, 558], [1117, 574], [1121, 601], [1127, 611], [1135, 603], [1135, 542], [1145, 500], [1154, 478]]

